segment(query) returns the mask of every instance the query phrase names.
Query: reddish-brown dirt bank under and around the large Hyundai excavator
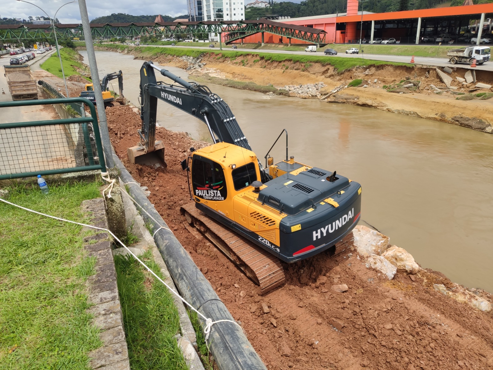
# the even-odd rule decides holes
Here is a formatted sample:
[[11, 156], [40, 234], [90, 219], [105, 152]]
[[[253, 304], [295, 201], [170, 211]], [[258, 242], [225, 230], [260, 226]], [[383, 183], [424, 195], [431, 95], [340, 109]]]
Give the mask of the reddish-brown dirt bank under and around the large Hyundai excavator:
[[[135, 110], [135, 111], [134, 111]], [[157, 128], [167, 170], [132, 165], [127, 148], [137, 144], [136, 109], [106, 109], [111, 142], [149, 200], [211, 282], [268, 369], [459, 370], [493, 369], [493, 318], [433, 290], [451, 286], [442, 274], [398, 273], [388, 281], [355, 254], [284, 264], [286, 284], [260, 296], [229, 259], [189, 233], [180, 214], [190, 202], [180, 161], [205, 142]], [[339, 293], [333, 285], [346, 284]], [[491, 296], [490, 296], [491, 297]]]

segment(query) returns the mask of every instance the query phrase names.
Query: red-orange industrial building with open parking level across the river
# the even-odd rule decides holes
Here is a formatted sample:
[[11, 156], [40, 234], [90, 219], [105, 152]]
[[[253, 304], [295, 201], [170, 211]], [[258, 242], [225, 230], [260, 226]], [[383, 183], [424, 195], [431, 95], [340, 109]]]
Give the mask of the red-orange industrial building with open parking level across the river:
[[[478, 37], [492, 34], [493, 3], [406, 10], [388, 13], [358, 12], [358, 0], [348, 0], [347, 13], [283, 19], [282, 23], [313, 27], [327, 33], [326, 43], [359, 42], [366, 38], [393, 37], [402, 43], [420, 43], [427, 36], [449, 35], [455, 43], [469, 43], [468, 33]], [[483, 24], [483, 27], [474, 26]], [[361, 30], [362, 26], [362, 30]], [[263, 39], [262, 39], [263, 38]], [[460, 39], [459, 39], [460, 38]], [[279, 35], [260, 33], [245, 37], [244, 42], [308, 43]]]

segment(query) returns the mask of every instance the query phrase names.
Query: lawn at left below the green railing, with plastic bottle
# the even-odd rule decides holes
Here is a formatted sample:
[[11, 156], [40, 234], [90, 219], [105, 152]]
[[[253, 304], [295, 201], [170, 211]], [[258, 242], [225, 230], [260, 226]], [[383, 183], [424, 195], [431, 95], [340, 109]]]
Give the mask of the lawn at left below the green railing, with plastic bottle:
[[[50, 186], [48, 195], [11, 186], [8, 201], [84, 222], [80, 203], [99, 183]], [[0, 369], [88, 369], [100, 347], [90, 325], [86, 286], [95, 258], [84, 257], [82, 226], [0, 202]]]

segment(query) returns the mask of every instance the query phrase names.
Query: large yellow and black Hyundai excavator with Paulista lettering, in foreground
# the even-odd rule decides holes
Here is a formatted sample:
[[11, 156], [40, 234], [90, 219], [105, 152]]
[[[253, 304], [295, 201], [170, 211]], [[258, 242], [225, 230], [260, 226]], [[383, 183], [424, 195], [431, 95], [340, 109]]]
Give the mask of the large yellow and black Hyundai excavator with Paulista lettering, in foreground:
[[[175, 84], [158, 82], [154, 70]], [[157, 100], [208, 127], [213, 144], [182, 161], [192, 203], [182, 206], [197, 227], [265, 293], [284, 283], [279, 259], [292, 263], [323, 251], [338, 253], [360, 219], [361, 186], [336, 171], [288, 157], [266, 168], [251, 150], [229, 106], [211, 90], [144, 62], [141, 68], [141, 142], [128, 148], [131, 163], [166, 167], [164, 146], [155, 141]], [[190, 179], [191, 175], [191, 179]]]

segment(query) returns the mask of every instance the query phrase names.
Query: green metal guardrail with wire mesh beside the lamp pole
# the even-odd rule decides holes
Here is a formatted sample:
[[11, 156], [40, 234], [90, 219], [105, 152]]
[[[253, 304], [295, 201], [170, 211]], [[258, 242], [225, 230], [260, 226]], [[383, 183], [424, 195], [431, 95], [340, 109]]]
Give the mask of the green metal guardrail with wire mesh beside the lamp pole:
[[0, 123], [0, 180], [101, 170], [105, 157], [96, 109], [84, 98], [0, 102], [0, 109], [81, 103], [88, 117]]

